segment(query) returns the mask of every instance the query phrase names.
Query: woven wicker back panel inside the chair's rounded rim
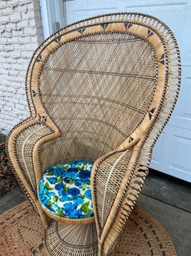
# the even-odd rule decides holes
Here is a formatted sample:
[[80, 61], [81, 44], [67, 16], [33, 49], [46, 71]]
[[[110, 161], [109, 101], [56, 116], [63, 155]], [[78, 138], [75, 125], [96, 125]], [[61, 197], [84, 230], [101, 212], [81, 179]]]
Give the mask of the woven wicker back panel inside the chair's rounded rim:
[[100, 30], [60, 44], [40, 71], [41, 102], [62, 132], [61, 161], [96, 160], [114, 150], [141, 123], [154, 96], [152, 45], [125, 31]]

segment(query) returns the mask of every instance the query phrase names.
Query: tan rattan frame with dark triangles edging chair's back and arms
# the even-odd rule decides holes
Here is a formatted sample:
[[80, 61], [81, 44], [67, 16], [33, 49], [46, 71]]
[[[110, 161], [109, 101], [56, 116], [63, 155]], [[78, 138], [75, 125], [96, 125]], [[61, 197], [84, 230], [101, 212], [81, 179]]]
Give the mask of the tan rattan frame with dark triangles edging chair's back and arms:
[[[107, 24], [107, 26], [104, 24]], [[159, 19], [150, 15], [118, 13], [82, 20], [50, 36], [36, 50], [27, 70], [26, 90], [31, 117], [11, 131], [10, 137], [7, 140], [7, 150], [9, 150], [12, 168], [16, 170], [18, 179], [22, 182], [22, 186], [33, 205], [39, 210], [41, 219], [47, 228], [49, 222], [46, 216], [47, 212], [46, 214], [44, 213], [31, 185], [23, 175], [15, 153], [15, 141], [18, 135], [22, 134], [28, 127], [43, 125], [44, 129], [46, 129], [46, 134], [43, 137], [37, 138], [32, 151], [38, 189], [41, 180], [40, 146], [47, 141], [61, 136], [61, 130], [57, 127], [54, 120], [48, 116], [41, 101], [39, 77], [43, 65], [49, 56], [62, 44], [75, 38], [103, 32], [136, 34], [141, 36], [141, 38], [145, 38], [154, 48], [158, 60], [156, 63], [156, 68], [158, 68], [156, 90], [145, 118], [116, 150], [102, 156], [94, 163], [91, 175], [91, 189], [99, 240], [99, 255], [108, 255], [113, 250], [113, 246], [116, 244], [118, 236], [137, 201], [148, 172], [152, 148], [172, 114], [179, 93], [181, 78], [180, 52], [171, 30], [164, 23], [160, 22]], [[97, 195], [96, 189], [96, 182], [97, 180], [99, 181], [97, 173], [99, 174], [105, 161], [111, 158], [111, 156], [120, 152], [125, 155], [129, 148], [133, 148], [133, 154], [131, 155], [126, 175], [121, 182], [116, 200], [103, 225], [103, 221], [101, 223], [99, 213], [97, 212], [97, 202], [101, 200]], [[58, 218], [54, 219], [58, 220]], [[75, 220], [69, 223], [77, 224]]]

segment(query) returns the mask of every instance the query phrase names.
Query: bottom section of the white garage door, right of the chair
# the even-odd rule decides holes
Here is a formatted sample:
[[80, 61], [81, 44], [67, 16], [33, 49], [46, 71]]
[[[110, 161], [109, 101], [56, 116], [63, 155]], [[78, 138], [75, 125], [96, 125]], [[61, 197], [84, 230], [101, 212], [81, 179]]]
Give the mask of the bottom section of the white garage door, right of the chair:
[[160, 138], [157, 143], [156, 147], [159, 146], [160, 151], [158, 150], [156, 154], [159, 154], [157, 158], [160, 160], [157, 163], [152, 160], [151, 168], [191, 181], [190, 130], [166, 126], [162, 143]]

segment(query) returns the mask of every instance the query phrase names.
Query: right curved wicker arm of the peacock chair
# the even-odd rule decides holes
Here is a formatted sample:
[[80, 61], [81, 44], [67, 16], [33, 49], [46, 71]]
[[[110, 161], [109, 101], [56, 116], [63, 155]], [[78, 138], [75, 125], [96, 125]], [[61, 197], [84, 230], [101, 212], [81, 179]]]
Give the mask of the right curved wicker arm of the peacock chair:
[[[115, 218], [118, 216], [118, 210], [127, 189], [130, 188], [128, 193], [130, 207], [137, 195], [137, 190], [129, 187], [129, 184], [137, 168], [141, 146], [141, 142], [138, 142], [135, 146], [125, 150], [113, 151], [103, 158], [97, 159], [94, 164], [91, 174], [91, 189], [99, 239], [99, 255], [108, 255], [116, 243], [115, 238], [119, 233], [117, 226], [120, 225], [120, 221], [115, 222]], [[114, 223], [116, 225], [113, 225]], [[108, 239], [111, 228], [114, 229], [113, 237], [109, 236]]]

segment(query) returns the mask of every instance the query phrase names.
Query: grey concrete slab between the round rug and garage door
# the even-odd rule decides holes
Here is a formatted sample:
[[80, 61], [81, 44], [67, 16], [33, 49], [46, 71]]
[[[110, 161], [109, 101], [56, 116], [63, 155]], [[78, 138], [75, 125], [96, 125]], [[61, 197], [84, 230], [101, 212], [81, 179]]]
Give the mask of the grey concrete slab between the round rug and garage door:
[[163, 224], [179, 256], [191, 255], [191, 213], [145, 195], [139, 197], [137, 204]]

